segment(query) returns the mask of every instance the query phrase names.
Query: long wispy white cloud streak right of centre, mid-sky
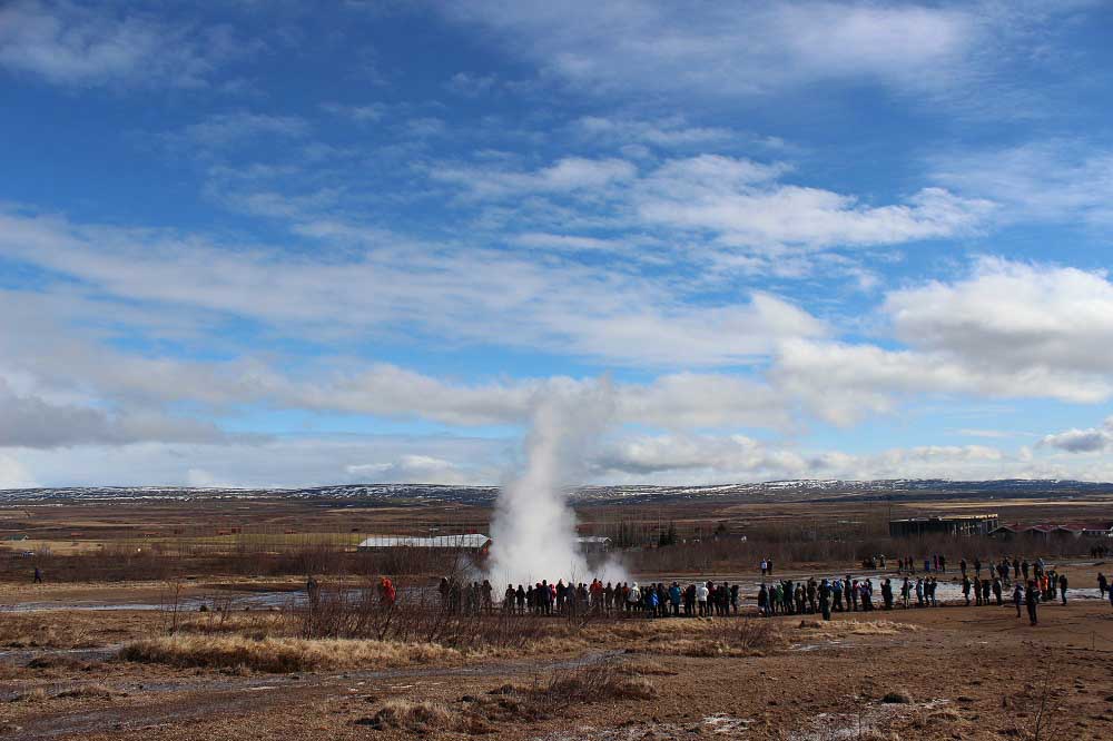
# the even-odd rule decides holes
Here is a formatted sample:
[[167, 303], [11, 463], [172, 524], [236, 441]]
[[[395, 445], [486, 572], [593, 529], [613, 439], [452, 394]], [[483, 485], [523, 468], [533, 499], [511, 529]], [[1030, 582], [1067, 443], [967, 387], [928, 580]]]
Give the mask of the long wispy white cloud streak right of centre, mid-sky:
[[[728, 254], [955, 237], [976, 231], [993, 210], [988, 201], [942, 188], [925, 188], [904, 202], [871, 206], [851, 195], [786, 184], [782, 178], [790, 169], [785, 162], [699, 155], [664, 160], [640, 172], [618, 159], [565, 158], [532, 171], [445, 166], [431, 177], [459, 187], [469, 198], [501, 202], [500, 208], [513, 215], [504, 220], [515, 225], [579, 221], [652, 231], [671, 243], [701, 245], [710, 238]], [[552, 199], [523, 201], [530, 194], [590, 198], [593, 210], [565, 213]]]

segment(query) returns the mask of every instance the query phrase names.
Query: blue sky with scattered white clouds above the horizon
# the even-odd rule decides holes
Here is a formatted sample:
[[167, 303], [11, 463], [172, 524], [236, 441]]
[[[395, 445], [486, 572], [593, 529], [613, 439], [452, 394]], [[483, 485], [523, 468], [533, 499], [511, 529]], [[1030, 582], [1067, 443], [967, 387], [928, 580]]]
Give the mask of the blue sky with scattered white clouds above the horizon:
[[1113, 480], [1111, 23], [4, 3], [0, 486]]

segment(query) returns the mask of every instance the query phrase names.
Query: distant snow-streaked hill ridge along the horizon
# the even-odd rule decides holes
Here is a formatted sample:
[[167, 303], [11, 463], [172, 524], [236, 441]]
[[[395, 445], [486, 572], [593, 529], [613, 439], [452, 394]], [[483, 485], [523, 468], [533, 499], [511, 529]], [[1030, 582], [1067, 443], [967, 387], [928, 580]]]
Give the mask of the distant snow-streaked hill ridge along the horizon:
[[[490, 504], [494, 486], [436, 484], [339, 484], [306, 488], [189, 488], [181, 486], [76, 486], [0, 490], [0, 502], [128, 502], [137, 500], [349, 500], [420, 504], [445, 502]], [[884, 481], [797, 480], [710, 486], [583, 486], [572, 492], [578, 504], [646, 504], [716, 498], [738, 502], [900, 501], [947, 498], [1057, 498], [1113, 495], [1113, 483], [1060, 480]]]

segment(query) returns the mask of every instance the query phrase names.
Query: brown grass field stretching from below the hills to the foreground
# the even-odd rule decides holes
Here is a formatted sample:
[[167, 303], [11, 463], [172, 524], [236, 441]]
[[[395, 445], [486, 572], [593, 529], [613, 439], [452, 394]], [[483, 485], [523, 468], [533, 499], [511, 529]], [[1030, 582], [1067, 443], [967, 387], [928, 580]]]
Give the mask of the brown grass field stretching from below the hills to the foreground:
[[[1113, 571], [1089, 543], [894, 541], [886, 530], [890, 515], [986, 511], [1113, 520], [1109, 501], [1037, 500], [579, 516], [583, 532], [634, 525], [643, 546], [624, 557], [639, 581], [752, 584], [761, 554], [794, 579], [846, 573], [876, 553], [1044, 556], [1073, 590]], [[362, 593], [384, 573], [429, 585], [443, 562], [353, 545], [372, 533], [485, 532], [490, 514], [284, 501], [2, 508], [0, 536], [28, 540], [0, 541], [0, 738], [1113, 738], [1113, 606], [1096, 599], [1042, 605], [1037, 626], [1011, 605], [760, 619], [752, 593], [742, 616], [708, 620], [443, 619], [405, 603], [417, 597], [385, 614], [339, 596], [333, 613], [308, 616], [295, 601], [308, 573], [327, 595]], [[670, 523], [687, 542], [657, 547]], [[36, 565], [45, 584], [31, 583]]]

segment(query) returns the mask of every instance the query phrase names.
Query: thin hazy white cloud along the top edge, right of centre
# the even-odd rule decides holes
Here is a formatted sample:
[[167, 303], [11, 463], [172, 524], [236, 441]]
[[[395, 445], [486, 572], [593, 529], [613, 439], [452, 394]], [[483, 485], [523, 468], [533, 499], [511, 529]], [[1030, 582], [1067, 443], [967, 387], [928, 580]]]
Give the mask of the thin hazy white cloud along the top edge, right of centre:
[[543, 71], [608, 92], [738, 96], [859, 79], [935, 88], [954, 83], [991, 30], [964, 7], [927, 4], [481, 1], [443, 10]]

